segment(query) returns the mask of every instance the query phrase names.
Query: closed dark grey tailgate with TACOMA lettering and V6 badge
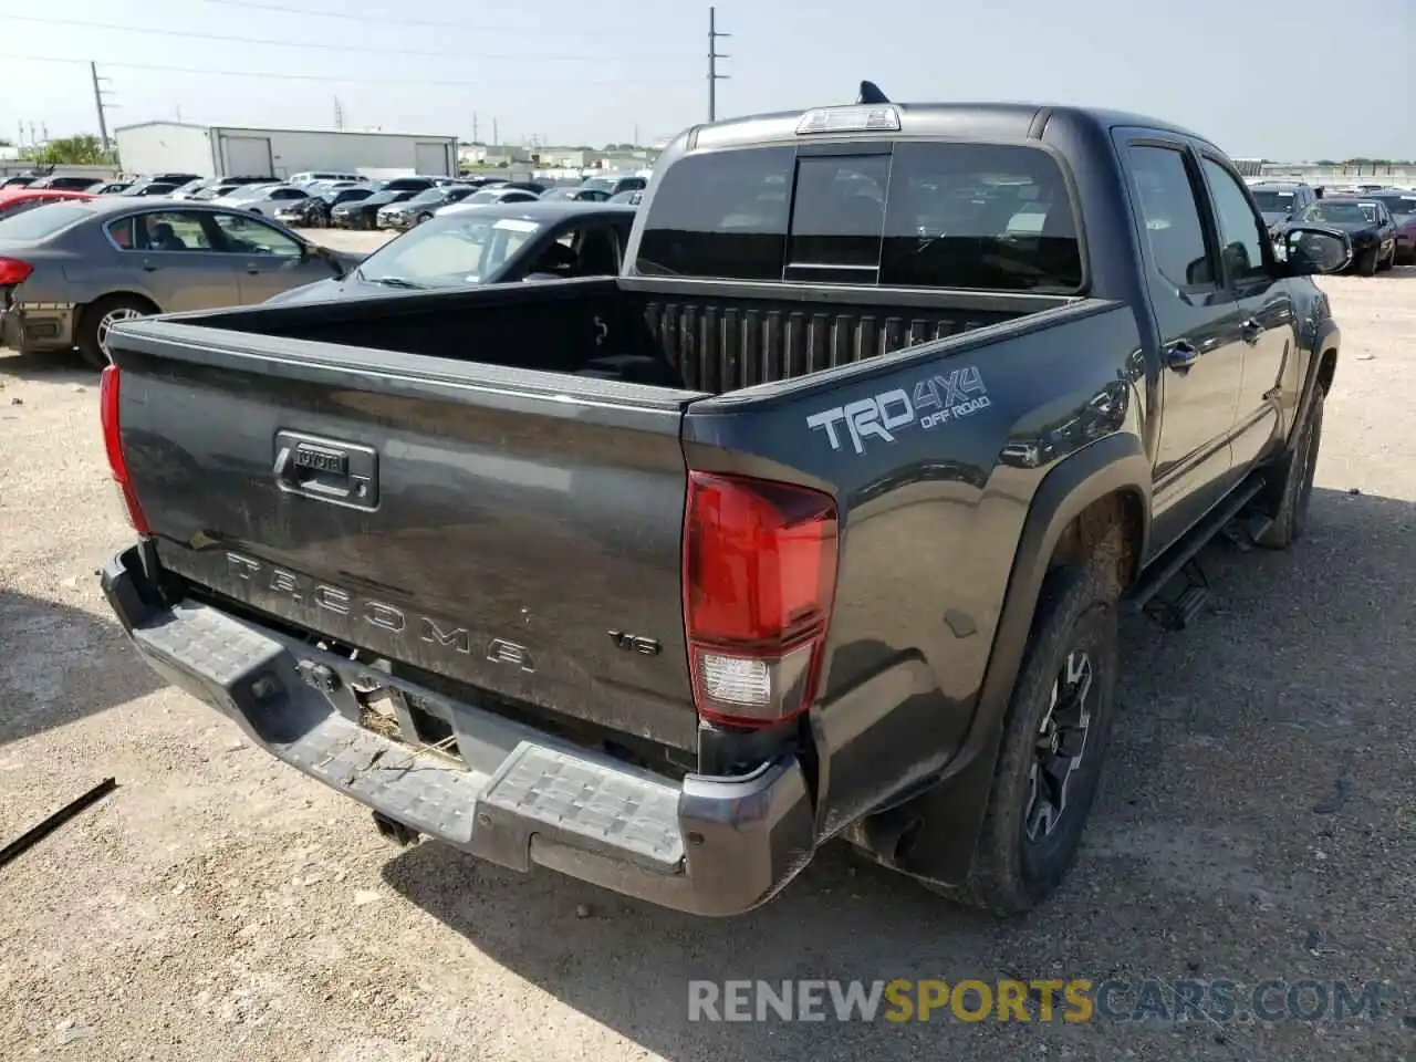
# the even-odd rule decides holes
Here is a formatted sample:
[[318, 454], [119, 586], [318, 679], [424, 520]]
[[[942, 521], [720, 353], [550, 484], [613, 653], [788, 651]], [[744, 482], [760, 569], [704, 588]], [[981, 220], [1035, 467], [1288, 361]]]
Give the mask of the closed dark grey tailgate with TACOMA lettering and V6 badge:
[[695, 395], [180, 320], [113, 347], [164, 568], [513, 704], [694, 748]]

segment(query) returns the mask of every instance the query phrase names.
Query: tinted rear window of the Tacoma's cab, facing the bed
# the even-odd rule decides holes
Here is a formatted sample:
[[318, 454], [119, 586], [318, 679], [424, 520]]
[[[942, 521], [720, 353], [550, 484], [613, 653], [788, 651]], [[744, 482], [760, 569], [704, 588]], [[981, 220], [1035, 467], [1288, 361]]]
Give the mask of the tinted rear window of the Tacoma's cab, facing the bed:
[[1082, 287], [1066, 181], [1014, 144], [898, 142], [878, 153], [760, 147], [670, 166], [646, 218], [644, 276], [891, 287]]

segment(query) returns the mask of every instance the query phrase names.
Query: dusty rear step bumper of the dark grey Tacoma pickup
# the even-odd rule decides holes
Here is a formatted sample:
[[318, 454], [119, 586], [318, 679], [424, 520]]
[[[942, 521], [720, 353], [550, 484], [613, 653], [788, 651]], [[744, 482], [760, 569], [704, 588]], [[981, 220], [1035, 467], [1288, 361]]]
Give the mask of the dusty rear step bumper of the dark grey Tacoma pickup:
[[262, 749], [503, 867], [538, 864], [677, 910], [735, 915], [776, 895], [814, 850], [790, 756], [742, 777], [678, 782], [378, 673], [378, 685], [456, 736], [460, 760], [415, 756], [358, 724], [365, 668], [217, 607], [160, 603], [137, 548], [113, 558], [101, 583], [147, 663]]

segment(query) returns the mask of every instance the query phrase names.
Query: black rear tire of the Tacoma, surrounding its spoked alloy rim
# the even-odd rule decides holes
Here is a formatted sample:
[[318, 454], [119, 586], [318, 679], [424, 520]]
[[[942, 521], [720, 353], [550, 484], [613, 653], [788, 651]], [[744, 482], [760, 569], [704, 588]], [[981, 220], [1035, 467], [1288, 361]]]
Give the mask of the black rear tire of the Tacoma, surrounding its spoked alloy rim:
[[[1054, 715], [1063, 670], [1085, 654], [1092, 677], [1090, 721], [1078, 767], [1070, 773], [1056, 824], [1029, 838], [1035, 810], [1034, 766], [1041, 733]], [[1116, 709], [1116, 581], [1106, 564], [1048, 573], [1034, 615], [1022, 668], [1004, 716], [988, 810], [961, 885], [930, 888], [942, 896], [997, 915], [1018, 915], [1048, 898], [1076, 860], [1096, 797]]]

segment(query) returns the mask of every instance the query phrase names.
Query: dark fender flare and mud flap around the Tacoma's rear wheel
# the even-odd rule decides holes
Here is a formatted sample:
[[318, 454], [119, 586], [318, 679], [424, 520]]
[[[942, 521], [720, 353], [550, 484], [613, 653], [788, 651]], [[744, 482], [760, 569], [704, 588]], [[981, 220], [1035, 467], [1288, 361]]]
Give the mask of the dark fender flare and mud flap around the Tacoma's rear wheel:
[[940, 780], [910, 801], [913, 807], [888, 813], [896, 820], [903, 814], [923, 828], [906, 831], [896, 860], [886, 857], [886, 862], [946, 885], [959, 885], [967, 878], [993, 787], [1004, 714], [1022, 667], [1049, 562], [1072, 521], [1087, 506], [1119, 491], [1131, 494], [1140, 503], [1143, 541], [1137, 547], [1138, 556], [1144, 556], [1150, 531], [1151, 462], [1140, 438], [1109, 435], [1063, 459], [1044, 477], [1018, 538], [969, 736]]

